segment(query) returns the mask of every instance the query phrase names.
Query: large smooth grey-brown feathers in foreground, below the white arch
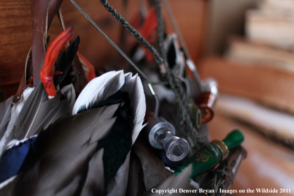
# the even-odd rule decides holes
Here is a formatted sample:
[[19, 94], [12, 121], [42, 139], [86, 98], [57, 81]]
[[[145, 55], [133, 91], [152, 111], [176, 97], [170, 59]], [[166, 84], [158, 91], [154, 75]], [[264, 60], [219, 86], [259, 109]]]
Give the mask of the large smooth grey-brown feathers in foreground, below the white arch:
[[[33, 146], [35, 158], [30, 159], [33, 166], [18, 174], [15, 185], [18, 188], [11, 195], [79, 195], [89, 181], [87, 173], [91, 159], [95, 159], [98, 141], [109, 133], [118, 106], [91, 109], [49, 125]], [[102, 159], [99, 160], [96, 167], [103, 168]]]

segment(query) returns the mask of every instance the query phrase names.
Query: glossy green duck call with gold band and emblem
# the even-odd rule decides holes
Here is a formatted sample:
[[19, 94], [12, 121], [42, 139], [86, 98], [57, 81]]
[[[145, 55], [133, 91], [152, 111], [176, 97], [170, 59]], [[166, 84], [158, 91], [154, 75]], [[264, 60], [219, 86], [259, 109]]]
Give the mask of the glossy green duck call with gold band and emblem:
[[196, 151], [183, 166], [175, 169], [175, 175], [183, 171], [190, 164], [193, 165], [190, 178], [205, 173], [213, 169], [219, 162], [226, 159], [229, 150], [238, 147], [243, 141], [243, 134], [239, 130], [234, 130], [230, 132], [224, 140], [214, 140]]

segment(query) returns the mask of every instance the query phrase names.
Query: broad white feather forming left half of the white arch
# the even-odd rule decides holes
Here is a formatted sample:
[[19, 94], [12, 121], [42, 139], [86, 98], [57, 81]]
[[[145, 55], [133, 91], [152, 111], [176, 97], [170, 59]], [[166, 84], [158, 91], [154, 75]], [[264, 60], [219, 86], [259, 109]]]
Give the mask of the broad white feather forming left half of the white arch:
[[72, 115], [78, 113], [82, 106], [86, 108], [96, 101], [101, 101], [115, 94], [125, 83], [123, 71], [110, 71], [91, 80], [83, 89], [72, 110]]

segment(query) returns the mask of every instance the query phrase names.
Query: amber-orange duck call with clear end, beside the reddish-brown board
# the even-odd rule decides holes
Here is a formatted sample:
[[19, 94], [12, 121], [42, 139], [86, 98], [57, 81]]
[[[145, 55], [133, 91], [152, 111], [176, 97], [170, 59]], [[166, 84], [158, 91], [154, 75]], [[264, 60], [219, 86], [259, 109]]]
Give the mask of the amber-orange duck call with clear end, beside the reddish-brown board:
[[207, 78], [202, 82], [202, 93], [197, 99], [197, 105], [201, 111], [201, 123], [210, 121], [213, 117], [212, 106], [217, 98], [217, 82], [213, 78]]

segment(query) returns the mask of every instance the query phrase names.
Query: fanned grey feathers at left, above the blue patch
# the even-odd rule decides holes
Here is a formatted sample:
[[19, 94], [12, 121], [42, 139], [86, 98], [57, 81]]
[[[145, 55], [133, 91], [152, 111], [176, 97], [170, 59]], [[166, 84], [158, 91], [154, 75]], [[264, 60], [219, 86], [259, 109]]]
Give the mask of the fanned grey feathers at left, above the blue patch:
[[60, 101], [60, 96], [49, 99], [40, 82], [25, 101], [3, 149], [13, 140], [19, 141], [39, 134], [58, 118], [70, 115], [69, 110], [67, 99]]

